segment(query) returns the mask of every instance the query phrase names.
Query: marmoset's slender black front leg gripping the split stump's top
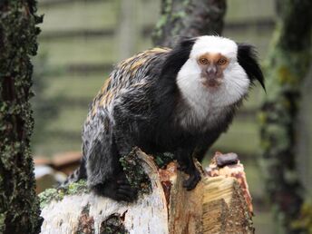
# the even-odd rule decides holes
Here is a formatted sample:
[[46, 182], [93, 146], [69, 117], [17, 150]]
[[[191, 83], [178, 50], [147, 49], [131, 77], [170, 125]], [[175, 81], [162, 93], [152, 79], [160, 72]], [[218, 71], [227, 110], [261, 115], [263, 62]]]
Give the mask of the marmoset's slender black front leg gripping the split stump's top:
[[187, 190], [193, 190], [201, 177], [200, 171], [198, 171], [194, 164], [192, 150], [179, 149], [176, 151], [176, 157], [179, 163], [179, 170], [190, 175], [189, 179], [183, 181], [183, 187]]

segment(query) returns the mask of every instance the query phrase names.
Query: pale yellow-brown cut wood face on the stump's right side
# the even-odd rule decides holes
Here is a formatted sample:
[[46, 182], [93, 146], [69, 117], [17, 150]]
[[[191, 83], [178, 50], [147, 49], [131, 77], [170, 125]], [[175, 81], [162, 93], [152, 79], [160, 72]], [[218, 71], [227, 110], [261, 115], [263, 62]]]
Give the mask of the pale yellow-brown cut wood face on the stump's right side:
[[203, 233], [254, 232], [248, 206], [235, 178], [205, 178], [204, 184]]

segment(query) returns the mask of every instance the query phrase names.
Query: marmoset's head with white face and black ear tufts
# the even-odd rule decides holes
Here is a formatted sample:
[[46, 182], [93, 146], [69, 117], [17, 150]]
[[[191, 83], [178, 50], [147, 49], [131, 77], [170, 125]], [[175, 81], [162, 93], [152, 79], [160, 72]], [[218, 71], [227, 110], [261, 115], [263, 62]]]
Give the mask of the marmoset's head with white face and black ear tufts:
[[184, 56], [176, 82], [190, 102], [209, 100], [229, 106], [245, 97], [255, 80], [265, 88], [256, 52], [249, 44], [206, 35], [181, 41], [172, 54], [177, 59]]

